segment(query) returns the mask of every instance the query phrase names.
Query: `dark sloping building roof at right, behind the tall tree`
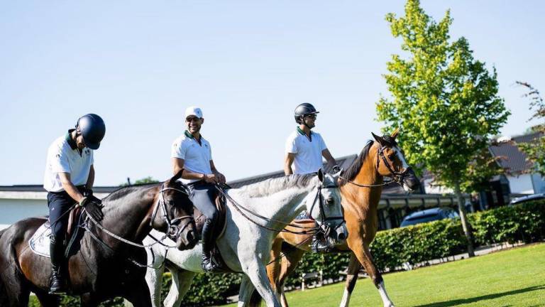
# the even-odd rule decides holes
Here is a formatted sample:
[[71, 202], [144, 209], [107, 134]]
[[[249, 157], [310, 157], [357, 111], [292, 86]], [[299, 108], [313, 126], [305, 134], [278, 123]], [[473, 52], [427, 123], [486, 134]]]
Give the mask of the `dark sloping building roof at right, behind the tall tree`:
[[510, 173], [526, 173], [531, 171], [533, 163], [527, 161], [527, 155], [519, 150], [517, 144], [528, 143], [541, 137], [540, 132], [514, 136], [510, 141], [505, 141], [489, 147], [490, 152], [495, 157], [502, 157], [498, 163], [502, 168], [506, 168]]

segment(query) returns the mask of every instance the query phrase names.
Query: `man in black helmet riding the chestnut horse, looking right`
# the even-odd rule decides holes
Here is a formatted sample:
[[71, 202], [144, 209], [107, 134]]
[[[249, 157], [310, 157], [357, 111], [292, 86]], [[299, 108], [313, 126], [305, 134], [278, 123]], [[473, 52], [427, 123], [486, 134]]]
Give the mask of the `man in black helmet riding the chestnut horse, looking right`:
[[[284, 161], [284, 173], [290, 175], [317, 173], [322, 167], [321, 158], [326, 158], [329, 165], [333, 166], [334, 173], [341, 170], [333, 156], [329, 153], [324, 139], [317, 132], [311, 131], [315, 126], [316, 108], [312, 104], [303, 103], [295, 108], [295, 122], [299, 124], [297, 129], [287, 137], [286, 156]], [[312, 237], [312, 249], [314, 252], [324, 251], [327, 246], [323, 240]]]

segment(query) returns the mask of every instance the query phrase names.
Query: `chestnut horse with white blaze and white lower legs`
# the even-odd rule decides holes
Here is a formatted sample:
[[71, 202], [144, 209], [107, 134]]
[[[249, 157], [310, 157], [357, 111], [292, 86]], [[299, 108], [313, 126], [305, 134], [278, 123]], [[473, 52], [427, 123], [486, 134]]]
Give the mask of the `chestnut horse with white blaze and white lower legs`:
[[[373, 280], [384, 306], [394, 306], [387, 295], [380, 271], [373, 263], [369, 246], [377, 232], [377, 208], [384, 185], [383, 178], [385, 176], [393, 178], [407, 192], [418, 188], [420, 184], [397, 146], [395, 139], [398, 131], [396, 129], [392, 135], [382, 137], [373, 134], [375, 141], [368, 141], [341, 179], [341, 197], [348, 238], [346, 244], [338, 249], [352, 251], [341, 306], [348, 306], [361, 266]], [[285, 280], [294, 271], [303, 254], [310, 250], [309, 241], [309, 235], [280, 232], [273, 242], [271, 259], [278, 259], [281, 256], [282, 242], [292, 245], [289, 252], [284, 252], [285, 257], [282, 257], [280, 262], [273, 262], [267, 266], [269, 279], [277, 296], [281, 298], [282, 306], [287, 307], [283, 291]], [[254, 295], [251, 306], [258, 306], [259, 301], [260, 298]]]

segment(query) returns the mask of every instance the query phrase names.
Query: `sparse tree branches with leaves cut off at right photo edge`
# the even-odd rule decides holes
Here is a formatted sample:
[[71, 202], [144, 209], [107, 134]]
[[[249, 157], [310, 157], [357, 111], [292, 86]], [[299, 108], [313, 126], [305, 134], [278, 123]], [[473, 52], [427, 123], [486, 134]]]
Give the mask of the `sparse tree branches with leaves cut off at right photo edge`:
[[[532, 117], [530, 117], [528, 121], [539, 119], [541, 122], [545, 122], [545, 102], [543, 101], [543, 97], [539, 94], [539, 90], [527, 82], [517, 81], [517, 85], [526, 87], [528, 90], [528, 92], [524, 94], [524, 97], [530, 99], [530, 109], [534, 111], [534, 114], [532, 114]], [[541, 134], [545, 134], [544, 123], [532, 126], [530, 129], [532, 129], [532, 132], [541, 132]], [[545, 176], [545, 138], [541, 135], [533, 141], [519, 143], [517, 146], [526, 154], [527, 160], [532, 162], [532, 171], [536, 171], [541, 176]]]

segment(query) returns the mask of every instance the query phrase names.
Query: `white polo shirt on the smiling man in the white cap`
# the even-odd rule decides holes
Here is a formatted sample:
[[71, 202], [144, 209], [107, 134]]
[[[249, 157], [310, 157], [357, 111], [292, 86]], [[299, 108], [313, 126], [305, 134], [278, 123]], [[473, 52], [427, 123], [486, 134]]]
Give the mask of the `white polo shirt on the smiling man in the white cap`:
[[[210, 143], [201, 135], [201, 144], [194, 139], [192, 134], [185, 131], [180, 137], [172, 143], [172, 158], [181, 158], [184, 160], [184, 168], [192, 173], [211, 174], [210, 161], [212, 159], [212, 150]], [[180, 179], [182, 183], [192, 183], [198, 179]]]

